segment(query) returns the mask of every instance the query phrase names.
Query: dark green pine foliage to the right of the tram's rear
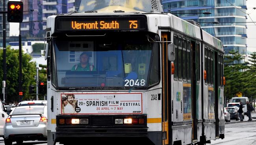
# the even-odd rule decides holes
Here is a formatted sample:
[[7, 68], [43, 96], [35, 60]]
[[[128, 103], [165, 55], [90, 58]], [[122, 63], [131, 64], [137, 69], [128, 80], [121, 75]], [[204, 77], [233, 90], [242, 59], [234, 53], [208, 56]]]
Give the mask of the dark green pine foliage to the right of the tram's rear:
[[[254, 84], [256, 83], [256, 67], [255, 65], [248, 66], [245, 62], [241, 64], [243, 57], [238, 52], [230, 51], [229, 55], [225, 57], [224, 65], [224, 76], [226, 78], [226, 85], [224, 88], [224, 95], [226, 98], [232, 98], [236, 96], [237, 92], [242, 92], [244, 96], [250, 98], [256, 97], [256, 88]], [[256, 53], [252, 54], [250, 57], [255, 64]], [[237, 64], [238, 63], [238, 64]]]

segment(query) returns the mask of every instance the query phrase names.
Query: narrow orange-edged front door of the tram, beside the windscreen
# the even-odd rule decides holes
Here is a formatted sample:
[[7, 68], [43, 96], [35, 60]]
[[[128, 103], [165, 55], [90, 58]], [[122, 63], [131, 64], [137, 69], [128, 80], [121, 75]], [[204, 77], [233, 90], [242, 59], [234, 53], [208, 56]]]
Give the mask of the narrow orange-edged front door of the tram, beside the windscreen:
[[[164, 43], [162, 43], [162, 86], [163, 86], [163, 91], [162, 91], [162, 138], [163, 138], [163, 145], [168, 145], [169, 144], [169, 120], [170, 120], [170, 116], [169, 116], [169, 112], [168, 112], [168, 107], [169, 107], [169, 103], [168, 101], [171, 98], [171, 68], [170, 68], [170, 63], [168, 61], [168, 57], [167, 57], [167, 41], [170, 41], [170, 34], [169, 33], [164, 33], [162, 32], [161, 34], [161, 41], [164, 41]], [[169, 73], [170, 72], [170, 73]]]

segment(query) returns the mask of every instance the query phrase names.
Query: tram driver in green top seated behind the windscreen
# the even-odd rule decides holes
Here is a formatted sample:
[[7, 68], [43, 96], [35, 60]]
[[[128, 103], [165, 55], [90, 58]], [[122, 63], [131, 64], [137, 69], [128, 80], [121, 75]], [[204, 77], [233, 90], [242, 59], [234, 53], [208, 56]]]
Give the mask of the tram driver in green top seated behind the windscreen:
[[86, 52], [80, 54], [80, 63], [74, 65], [71, 71], [96, 71], [94, 65], [90, 65], [89, 55]]

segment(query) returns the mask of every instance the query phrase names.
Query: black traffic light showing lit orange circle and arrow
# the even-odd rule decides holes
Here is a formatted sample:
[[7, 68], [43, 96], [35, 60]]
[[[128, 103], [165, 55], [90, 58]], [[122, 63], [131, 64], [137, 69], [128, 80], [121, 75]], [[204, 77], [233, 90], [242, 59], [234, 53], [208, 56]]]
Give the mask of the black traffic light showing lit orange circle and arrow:
[[21, 23], [23, 21], [23, 3], [9, 1], [7, 4], [7, 21]]

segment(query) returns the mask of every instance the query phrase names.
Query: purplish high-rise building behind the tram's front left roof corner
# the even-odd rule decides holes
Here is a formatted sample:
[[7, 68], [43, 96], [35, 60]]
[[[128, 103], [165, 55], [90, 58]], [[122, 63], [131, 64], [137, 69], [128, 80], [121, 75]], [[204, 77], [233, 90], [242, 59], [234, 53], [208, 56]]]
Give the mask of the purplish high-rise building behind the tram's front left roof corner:
[[[21, 0], [24, 13], [21, 24], [22, 41], [43, 41], [45, 37], [46, 19], [52, 14], [63, 14], [78, 9], [80, 0]], [[31, 40], [33, 39], [33, 40]]]

